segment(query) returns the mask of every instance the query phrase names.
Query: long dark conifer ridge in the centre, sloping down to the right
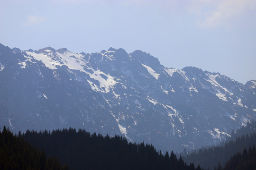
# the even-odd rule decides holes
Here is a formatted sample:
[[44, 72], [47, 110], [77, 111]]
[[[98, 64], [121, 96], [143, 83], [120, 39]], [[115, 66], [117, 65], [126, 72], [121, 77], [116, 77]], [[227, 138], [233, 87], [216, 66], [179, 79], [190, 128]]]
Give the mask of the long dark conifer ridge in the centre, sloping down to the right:
[[27, 130], [25, 134], [19, 133], [19, 137], [74, 170], [195, 170], [193, 164], [187, 166], [173, 152], [158, 153], [152, 144], [129, 143], [122, 136], [103, 137], [69, 128], [51, 133]]

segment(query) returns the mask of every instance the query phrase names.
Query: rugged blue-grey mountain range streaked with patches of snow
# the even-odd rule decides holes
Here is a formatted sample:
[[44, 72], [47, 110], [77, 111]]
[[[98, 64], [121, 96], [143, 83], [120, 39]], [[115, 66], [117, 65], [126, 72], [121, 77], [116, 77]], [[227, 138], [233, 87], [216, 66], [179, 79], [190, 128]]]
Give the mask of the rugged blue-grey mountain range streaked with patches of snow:
[[84, 128], [181, 151], [256, 119], [256, 81], [165, 68], [142, 52], [20, 51], [0, 44], [0, 125]]

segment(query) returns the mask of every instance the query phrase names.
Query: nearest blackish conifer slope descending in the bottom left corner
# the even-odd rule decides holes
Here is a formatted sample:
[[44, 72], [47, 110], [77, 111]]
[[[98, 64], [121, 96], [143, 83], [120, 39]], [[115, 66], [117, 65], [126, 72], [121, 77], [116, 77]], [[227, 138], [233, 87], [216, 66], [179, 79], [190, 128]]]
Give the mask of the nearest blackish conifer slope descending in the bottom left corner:
[[29, 143], [14, 136], [9, 129], [0, 131], [0, 170], [68, 170], [55, 158], [31, 147]]

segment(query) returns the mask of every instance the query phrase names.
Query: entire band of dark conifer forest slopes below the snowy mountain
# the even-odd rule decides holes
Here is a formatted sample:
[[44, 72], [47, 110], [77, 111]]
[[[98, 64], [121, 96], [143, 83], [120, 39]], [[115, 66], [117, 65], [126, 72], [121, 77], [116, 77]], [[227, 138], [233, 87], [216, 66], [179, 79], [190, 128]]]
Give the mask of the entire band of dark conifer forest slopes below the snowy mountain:
[[225, 144], [181, 153], [184, 156], [177, 158], [173, 151], [157, 152], [152, 144], [84, 129], [27, 130], [13, 135], [3, 127], [0, 170], [255, 170], [255, 129], [255, 121], [249, 122], [232, 132]]

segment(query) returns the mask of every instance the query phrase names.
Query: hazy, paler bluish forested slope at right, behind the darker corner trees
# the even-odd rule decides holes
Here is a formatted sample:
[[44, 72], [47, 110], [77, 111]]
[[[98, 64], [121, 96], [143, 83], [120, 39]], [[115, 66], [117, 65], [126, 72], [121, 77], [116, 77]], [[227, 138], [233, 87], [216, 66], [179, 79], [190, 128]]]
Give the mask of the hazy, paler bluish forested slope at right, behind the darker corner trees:
[[218, 167], [218, 164], [224, 167], [231, 156], [237, 159], [237, 154], [242, 153], [245, 148], [248, 149], [256, 144], [255, 127], [255, 121], [248, 122], [247, 126], [239, 128], [237, 133], [231, 133], [231, 137], [228, 139], [229, 142], [219, 146], [209, 146], [193, 151], [183, 157], [184, 161], [187, 163], [193, 162], [195, 165], [200, 164], [205, 169], [213, 169], [214, 167]]

